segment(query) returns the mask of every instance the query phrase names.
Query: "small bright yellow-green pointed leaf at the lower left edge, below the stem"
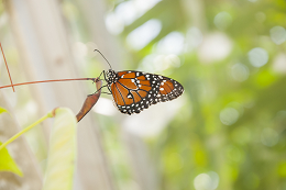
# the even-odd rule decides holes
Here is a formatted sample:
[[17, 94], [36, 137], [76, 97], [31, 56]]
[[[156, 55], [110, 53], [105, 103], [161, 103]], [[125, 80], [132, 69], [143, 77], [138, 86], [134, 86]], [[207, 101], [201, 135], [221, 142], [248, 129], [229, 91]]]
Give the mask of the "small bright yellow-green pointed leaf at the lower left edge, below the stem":
[[[2, 145], [1, 142], [0, 145]], [[20, 170], [13, 158], [9, 155], [7, 148], [0, 150], [0, 171], [11, 171], [20, 177], [23, 177], [23, 172]]]

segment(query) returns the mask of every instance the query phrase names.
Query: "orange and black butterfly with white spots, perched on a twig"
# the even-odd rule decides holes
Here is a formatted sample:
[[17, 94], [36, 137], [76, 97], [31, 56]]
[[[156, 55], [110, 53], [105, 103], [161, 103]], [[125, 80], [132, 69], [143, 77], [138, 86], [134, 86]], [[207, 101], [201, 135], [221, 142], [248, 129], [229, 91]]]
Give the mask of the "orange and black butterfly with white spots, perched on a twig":
[[178, 81], [161, 75], [135, 70], [114, 71], [111, 66], [101, 74], [117, 108], [129, 115], [140, 113], [152, 104], [174, 100], [184, 92]]

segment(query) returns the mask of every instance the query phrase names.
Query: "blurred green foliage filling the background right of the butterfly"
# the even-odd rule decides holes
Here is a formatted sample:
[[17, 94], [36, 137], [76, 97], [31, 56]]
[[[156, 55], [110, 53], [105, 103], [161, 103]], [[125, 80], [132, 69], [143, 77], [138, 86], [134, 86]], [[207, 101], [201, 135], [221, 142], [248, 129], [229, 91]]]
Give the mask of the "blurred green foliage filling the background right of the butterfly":
[[[201, 8], [197, 16], [202, 16], [190, 18], [196, 16], [191, 14], [196, 8], [188, 5]], [[142, 49], [127, 45], [132, 63], [153, 54], [156, 44], [170, 32], [180, 32], [187, 38], [191, 27], [198, 27], [204, 40], [220, 33], [232, 44], [226, 57], [207, 63], [199, 55], [200, 46], [185, 48], [178, 55], [183, 65], [170, 68], [170, 77], [185, 87], [186, 103], [151, 145], [161, 189], [195, 189], [196, 177], [210, 171], [219, 176], [218, 189], [286, 188], [286, 62], [275, 70], [277, 56], [285, 55], [286, 45], [275, 44], [270, 34], [274, 26], [286, 26], [285, 11], [283, 0], [163, 0], [119, 35], [124, 41], [151, 19], [162, 23], [160, 34]], [[226, 23], [221, 27], [215, 23], [220, 12], [229, 15], [222, 18]], [[199, 20], [202, 27], [194, 20]], [[267, 52], [264, 66], [255, 67], [250, 62], [248, 54], [254, 47]], [[235, 64], [246, 70], [244, 78]]]

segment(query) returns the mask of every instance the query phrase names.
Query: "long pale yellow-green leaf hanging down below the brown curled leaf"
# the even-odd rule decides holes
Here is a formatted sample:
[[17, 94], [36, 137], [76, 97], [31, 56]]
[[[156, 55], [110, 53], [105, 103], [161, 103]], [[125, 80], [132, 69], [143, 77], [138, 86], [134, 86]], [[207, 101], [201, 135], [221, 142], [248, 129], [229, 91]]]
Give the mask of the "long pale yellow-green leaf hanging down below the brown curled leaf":
[[43, 190], [73, 189], [76, 126], [76, 116], [69, 109], [56, 109]]

